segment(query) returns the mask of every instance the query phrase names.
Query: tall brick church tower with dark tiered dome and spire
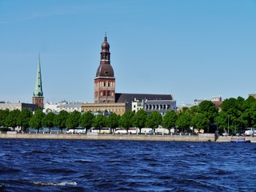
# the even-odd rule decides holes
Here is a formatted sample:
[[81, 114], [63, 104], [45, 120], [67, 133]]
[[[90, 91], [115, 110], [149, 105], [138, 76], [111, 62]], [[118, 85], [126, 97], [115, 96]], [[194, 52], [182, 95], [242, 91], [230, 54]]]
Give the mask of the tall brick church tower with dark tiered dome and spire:
[[94, 78], [94, 102], [115, 102], [114, 70], [110, 65], [110, 44], [107, 42], [106, 34], [102, 43], [100, 64]]

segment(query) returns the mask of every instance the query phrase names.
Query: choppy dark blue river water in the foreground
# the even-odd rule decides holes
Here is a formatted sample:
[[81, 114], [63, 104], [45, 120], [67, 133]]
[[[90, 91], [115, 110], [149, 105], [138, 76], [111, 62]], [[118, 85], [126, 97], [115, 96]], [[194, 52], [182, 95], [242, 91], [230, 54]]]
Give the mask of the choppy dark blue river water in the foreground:
[[0, 140], [0, 191], [256, 191], [256, 144]]

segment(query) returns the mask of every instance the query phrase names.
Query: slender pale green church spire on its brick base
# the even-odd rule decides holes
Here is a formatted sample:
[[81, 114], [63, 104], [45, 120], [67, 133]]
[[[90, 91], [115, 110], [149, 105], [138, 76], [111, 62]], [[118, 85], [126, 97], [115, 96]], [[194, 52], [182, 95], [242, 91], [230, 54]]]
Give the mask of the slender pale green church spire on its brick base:
[[40, 65], [40, 56], [39, 56], [39, 62], [38, 62], [38, 71], [37, 71], [37, 77], [35, 80], [35, 87], [34, 87], [34, 94], [32, 98], [32, 103], [35, 105], [38, 105], [41, 109], [43, 109], [44, 103], [43, 103], [43, 92], [42, 92], [42, 76], [41, 76], [41, 65]]

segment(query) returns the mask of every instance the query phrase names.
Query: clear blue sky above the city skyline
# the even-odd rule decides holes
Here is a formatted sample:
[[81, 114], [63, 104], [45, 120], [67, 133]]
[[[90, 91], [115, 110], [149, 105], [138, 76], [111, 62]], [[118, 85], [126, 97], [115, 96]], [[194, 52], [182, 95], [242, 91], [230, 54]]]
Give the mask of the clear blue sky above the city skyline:
[[195, 98], [256, 93], [256, 1], [0, 0], [0, 101], [94, 102], [105, 27], [116, 92]]

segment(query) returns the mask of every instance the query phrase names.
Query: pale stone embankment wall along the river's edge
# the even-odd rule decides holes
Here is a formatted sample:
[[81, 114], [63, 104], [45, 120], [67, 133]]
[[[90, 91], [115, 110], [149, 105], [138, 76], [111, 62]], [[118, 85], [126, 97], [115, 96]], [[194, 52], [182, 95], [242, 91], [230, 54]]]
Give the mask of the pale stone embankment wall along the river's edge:
[[[231, 137], [214, 134], [198, 135], [152, 135], [152, 134], [21, 134], [16, 132], [1, 133], [0, 138], [10, 139], [84, 139], [84, 140], [118, 140], [118, 141], [165, 141], [165, 142], [230, 142]], [[233, 137], [234, 138], [234, 137]], [[256, 142], [256, 138], [247, 138]]]

